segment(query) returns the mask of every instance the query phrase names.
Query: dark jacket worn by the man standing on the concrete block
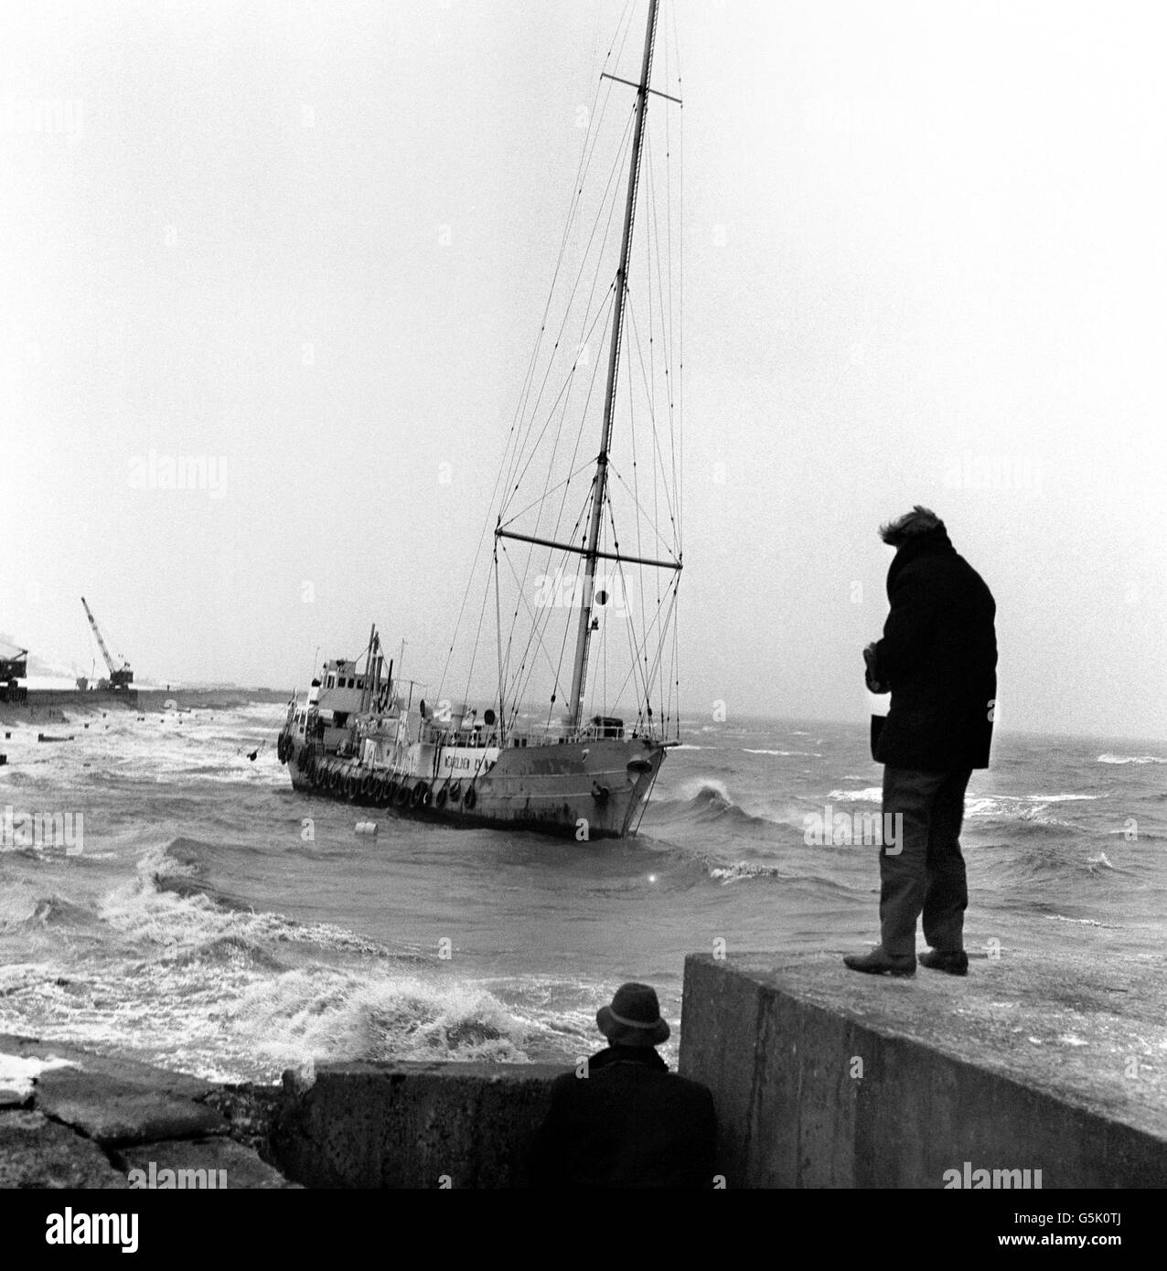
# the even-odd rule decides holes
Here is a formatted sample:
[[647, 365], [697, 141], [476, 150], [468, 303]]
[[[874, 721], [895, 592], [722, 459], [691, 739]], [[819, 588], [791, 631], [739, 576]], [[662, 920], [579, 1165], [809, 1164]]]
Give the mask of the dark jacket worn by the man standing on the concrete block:
[[943, 530], [908, 539], [887, 571], [891, 613], [876, 679], [891, 686], [872, 758], [896, 768], [988, 768], [997, 700], [997, 605]]

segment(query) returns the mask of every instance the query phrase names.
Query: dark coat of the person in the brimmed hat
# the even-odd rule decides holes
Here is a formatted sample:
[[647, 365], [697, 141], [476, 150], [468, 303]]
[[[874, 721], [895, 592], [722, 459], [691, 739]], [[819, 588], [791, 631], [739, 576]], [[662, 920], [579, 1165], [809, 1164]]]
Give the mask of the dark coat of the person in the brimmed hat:
[[536, 1187], [712, 1187], [713, 1096], [655, 1050], [609, 1046], [552, 1084], [530, 1154]]

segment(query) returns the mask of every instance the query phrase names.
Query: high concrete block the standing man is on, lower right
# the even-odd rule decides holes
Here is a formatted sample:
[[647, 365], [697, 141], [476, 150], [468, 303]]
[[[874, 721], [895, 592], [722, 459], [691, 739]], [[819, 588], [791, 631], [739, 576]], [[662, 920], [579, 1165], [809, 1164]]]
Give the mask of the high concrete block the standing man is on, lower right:
[[713, 1091], [730, 1187], [969, 1186], [965, 1162], [1164, 1187], [1163, 981], [1030, 955], [904, 980], [838, 955], [690, 955], [680, 1071]]

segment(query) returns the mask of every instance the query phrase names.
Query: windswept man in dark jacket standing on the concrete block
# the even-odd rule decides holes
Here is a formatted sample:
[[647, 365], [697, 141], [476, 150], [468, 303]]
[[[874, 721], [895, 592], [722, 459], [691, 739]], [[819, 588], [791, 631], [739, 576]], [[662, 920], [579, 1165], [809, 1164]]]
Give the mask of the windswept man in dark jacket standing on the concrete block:
[[895, 845], [880, 848], [880, 944], [843, 961], [853, 971], [915, 975], [923, 914], [932, 951], [920, 962], [967, 975], [960, 829], [972, 769], [989, 766], [997, 605], [927, 507], [880, 526], [880, 536], [896, 549], [887, 571], [891, 611], [884, 638], [863, 657], [867, 686], [891, 693], [887, 718], [872, 721], [872, 759], [885, 765], [884, 824], [901, 820], [890, 822], [900, 826]]

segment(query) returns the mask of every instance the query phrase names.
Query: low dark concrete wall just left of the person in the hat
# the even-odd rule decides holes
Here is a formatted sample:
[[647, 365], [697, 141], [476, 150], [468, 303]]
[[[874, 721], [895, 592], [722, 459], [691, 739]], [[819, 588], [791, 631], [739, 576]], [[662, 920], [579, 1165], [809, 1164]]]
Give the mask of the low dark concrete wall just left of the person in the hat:
[[280, 1169], [306, 1187], [526, 1187], [552, 1064], [323, 1064], [285, 1074], [272, 1134]]

